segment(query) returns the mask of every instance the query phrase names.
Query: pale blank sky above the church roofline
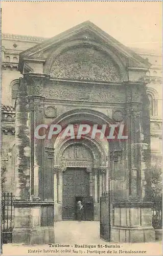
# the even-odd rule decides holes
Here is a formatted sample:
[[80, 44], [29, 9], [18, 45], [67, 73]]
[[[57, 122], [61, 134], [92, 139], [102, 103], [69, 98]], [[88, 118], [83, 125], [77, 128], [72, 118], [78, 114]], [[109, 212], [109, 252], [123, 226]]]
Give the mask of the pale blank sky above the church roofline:
[[85, 20], [128, 47], [162, 45], [162, 2], [6, 2], [2, 32], [53, 37]]

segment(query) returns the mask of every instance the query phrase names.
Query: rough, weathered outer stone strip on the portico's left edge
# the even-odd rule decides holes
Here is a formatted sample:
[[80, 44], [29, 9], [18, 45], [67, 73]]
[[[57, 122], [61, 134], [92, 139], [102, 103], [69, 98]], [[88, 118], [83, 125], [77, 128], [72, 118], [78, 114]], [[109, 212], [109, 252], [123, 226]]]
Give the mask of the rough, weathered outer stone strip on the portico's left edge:
[[28, 102], [24, 79], [19, 79], [15, 118], [15, 197], [30, 198], [30, 139], [28, 128]]

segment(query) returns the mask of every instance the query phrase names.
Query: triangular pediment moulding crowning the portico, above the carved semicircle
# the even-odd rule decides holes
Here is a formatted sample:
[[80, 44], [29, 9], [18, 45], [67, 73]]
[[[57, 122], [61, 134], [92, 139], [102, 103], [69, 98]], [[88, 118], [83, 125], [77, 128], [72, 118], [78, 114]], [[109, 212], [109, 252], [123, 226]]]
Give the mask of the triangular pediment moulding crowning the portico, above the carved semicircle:
[[124, 67], [148, 69], [151, 66], [147, 60], [134, 53], [95, 24], [86, 21], [22, 52], [19, 59], [20, 72], [22, 72], [25, 60], [40, 60], [45, 63], [58, 48], [64, 48], [65, 44], [66, 46], [75, 45], [79, 41], [83, 45], [90, 46], [92, 44], [95, 46], [96, 44], [101, 48], [107, 48], [123, 62]]

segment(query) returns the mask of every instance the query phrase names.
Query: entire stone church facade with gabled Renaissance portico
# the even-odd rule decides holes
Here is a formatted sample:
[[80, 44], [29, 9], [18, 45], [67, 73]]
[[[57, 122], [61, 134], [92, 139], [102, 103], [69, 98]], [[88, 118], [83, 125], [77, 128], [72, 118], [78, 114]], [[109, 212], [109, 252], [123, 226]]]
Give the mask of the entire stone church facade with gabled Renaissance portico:
[[[51, 39], [3, 35], [2, 159], [4, 190], [16, 198], [14, 242], [54, 242], [54, 222], [75, 220], [76, 199], [92, 203], [85, 220], [99, 221], [105, 191], [112, 241], [155, 240], [149, 168], [161, 164], [160, 58], [90, 22]], [[82, 122], [124, 123], [128, 140], [34, 136], [39, 124]]]

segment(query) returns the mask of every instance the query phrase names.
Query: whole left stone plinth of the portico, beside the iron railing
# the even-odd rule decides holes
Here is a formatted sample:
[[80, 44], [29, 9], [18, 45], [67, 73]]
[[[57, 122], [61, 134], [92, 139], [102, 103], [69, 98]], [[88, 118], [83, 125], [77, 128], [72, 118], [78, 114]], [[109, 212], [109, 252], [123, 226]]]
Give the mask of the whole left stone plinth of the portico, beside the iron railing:
[[[54, 243], [54, 206], [44, 202], [15, 202], [13, 243]], [[46, 215], [44, 214], [46, 212]]]

